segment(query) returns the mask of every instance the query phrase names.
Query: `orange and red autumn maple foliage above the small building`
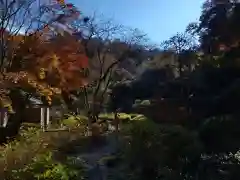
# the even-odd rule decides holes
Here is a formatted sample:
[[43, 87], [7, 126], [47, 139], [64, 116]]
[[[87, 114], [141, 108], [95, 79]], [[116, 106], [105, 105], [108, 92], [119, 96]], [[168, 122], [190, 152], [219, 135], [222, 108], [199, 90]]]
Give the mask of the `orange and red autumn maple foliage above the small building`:
[[[51, 104], [52, 96], [87, 83], [84, 69], [88, 60], [79, 41], [71, 35], [48, 40], [43, 37], [40, 33], [12, 37], [7, 52], [11, 66], [0, 81], [3, 90], [12, 87], [31, 89]], [[4, 93], [1, 93], [1, 99], [6, 102]]]

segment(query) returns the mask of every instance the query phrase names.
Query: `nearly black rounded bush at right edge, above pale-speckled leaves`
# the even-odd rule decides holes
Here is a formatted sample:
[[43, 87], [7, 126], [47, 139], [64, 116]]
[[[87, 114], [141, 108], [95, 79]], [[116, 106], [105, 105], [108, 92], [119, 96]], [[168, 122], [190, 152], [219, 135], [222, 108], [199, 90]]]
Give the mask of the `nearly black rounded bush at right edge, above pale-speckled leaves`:
[[205, 144], [206, 152], [235, 154], [239, 150], [239, 117], [216, 116], [202, 121], [199, 134]]

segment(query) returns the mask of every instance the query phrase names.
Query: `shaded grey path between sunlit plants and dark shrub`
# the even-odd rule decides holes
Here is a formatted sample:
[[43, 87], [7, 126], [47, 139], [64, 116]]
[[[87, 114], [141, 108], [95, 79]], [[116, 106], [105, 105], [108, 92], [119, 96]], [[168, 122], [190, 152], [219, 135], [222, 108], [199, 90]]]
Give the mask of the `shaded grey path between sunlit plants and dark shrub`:
[[108, 176], [107, 159], [118, 152], [117, 134], [105, 133], [96, 137], [83, 137], [61, 147], [61, 151], [73, 157], [74, 164], [83, 166], [89, 180], [105, 180]]

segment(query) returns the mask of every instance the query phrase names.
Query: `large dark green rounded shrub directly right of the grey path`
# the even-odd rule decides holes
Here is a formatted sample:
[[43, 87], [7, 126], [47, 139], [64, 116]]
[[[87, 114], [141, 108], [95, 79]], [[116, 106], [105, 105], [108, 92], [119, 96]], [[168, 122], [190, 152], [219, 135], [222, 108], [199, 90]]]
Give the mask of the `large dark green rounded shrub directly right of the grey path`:
[[129, 179], [181, 179], [201, 157], [197, 134], [180, 126], [159, 126], [145, 118], [131, 121], [124, 134], [130, 137], [124, 149]]

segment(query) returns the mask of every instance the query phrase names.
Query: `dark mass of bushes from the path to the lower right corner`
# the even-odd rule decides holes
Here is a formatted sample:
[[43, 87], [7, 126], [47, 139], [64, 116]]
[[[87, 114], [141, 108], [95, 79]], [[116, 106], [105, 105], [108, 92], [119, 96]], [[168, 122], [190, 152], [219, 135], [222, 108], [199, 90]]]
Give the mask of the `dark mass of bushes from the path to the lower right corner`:
[[123, 148], [125, 179], [217, 180], [239, 177], [240, 162], [235, 156], [231, 153], [209, 154], [198, 131], [141, 119], [128, 123], [123, 134], [128, 137]]

